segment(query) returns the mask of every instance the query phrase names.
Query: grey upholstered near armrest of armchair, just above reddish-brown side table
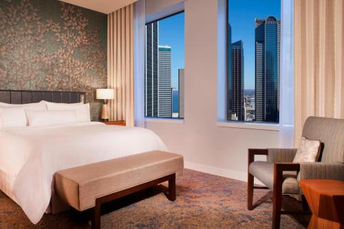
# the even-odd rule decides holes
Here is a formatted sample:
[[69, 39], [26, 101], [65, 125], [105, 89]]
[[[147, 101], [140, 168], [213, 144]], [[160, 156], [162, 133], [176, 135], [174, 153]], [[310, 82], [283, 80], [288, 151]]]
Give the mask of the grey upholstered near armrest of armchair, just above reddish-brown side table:
[[297, 179], [338, 179], [344, 181], [344, 164], [340, 162], [301, 162]]

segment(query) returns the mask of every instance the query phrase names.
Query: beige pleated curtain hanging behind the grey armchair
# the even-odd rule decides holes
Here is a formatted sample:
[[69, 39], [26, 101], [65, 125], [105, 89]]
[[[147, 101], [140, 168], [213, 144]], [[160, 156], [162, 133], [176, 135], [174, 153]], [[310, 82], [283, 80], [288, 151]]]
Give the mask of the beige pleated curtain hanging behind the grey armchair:
[[343, 0], [294, 1], [294, 142], [308, 116], [344, 118]]

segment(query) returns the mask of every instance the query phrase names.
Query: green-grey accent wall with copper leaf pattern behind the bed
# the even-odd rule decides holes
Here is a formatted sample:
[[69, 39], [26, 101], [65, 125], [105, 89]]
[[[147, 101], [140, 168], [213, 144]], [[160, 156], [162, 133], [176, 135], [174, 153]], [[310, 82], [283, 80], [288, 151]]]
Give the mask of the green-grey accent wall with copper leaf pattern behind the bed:
[[0, 89], [85, 91], [92, 120], [107, 87], [107, 14], [57, 0], [0, 0]]

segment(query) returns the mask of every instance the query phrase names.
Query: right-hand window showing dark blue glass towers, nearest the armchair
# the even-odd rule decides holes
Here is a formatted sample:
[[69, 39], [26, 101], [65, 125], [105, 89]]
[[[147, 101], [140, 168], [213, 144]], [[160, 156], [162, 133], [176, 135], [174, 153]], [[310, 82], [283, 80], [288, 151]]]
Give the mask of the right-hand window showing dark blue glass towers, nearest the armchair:
[[227, 120], [279, 122], [281, 2], [228, 0]]

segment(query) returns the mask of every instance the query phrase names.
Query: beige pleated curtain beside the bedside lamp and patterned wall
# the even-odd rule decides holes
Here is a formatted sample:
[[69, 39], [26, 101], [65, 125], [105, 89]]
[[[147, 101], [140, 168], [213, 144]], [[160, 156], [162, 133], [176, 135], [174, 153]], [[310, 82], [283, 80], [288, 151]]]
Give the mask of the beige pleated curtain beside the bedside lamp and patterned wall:
[[133, 126], [133, 4], [107, 16], [107, 87], [115, 89], [110, 120]]

